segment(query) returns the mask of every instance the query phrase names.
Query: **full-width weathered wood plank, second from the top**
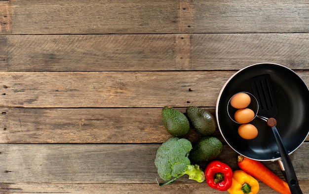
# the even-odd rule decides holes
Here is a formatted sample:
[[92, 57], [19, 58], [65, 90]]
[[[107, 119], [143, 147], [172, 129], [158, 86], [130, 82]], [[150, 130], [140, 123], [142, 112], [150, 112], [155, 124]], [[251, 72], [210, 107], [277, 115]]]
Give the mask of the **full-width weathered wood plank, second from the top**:
[[309, 69], [309, 34], [2, 35], [1, 71]]

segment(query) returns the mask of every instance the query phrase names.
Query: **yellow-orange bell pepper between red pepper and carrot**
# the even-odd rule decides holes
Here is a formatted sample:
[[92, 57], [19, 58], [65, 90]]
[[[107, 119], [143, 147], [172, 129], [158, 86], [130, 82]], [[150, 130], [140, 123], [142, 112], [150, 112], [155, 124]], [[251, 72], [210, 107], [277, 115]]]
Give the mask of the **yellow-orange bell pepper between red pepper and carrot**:
[[229, 194], [257, 194], [259, 182], [251, 175], [242, 170], [235, 170], [232, 177], [232, 186], [228, 189]]

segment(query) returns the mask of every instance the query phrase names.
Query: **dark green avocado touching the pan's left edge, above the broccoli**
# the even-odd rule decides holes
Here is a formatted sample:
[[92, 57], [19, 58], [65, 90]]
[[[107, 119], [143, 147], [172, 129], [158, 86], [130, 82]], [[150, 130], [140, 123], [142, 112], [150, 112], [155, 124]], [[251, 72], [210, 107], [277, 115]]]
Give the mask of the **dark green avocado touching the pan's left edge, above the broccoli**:
[[186, 114], [189, 117], [193, 128], [199, 134], [203, 136], [210, 136], [216, 131], [216, 120], [207, 110], [195, 106], [189, 106], [187, 107]]

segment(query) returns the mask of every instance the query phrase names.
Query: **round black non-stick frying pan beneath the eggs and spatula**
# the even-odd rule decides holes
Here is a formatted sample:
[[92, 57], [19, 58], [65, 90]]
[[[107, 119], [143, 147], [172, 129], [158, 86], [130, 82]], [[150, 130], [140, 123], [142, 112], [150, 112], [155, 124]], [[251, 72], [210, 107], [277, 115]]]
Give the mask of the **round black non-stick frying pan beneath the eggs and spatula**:
[[[277, 129], [288, 153], [294, 152], [306, 139], [309, 131], [309, 90], [291, 69], [277, 64], [256, 64], [239, 70], [222, 88], [217, 101], [216, 116], [221, 134], [237, 153], [259, 161], [280, 158], [273, 133], [266, 122], [255, 118], [251, 124], [259, 131], [256, 138], [246, 140], [238, 135], [239, 124], [228, 115], [229, 99], [238, 92], [253, 93], [250, 78], [269, 74], [278, 109]], [[263, 116], [263, 115], [261, 115]]]

